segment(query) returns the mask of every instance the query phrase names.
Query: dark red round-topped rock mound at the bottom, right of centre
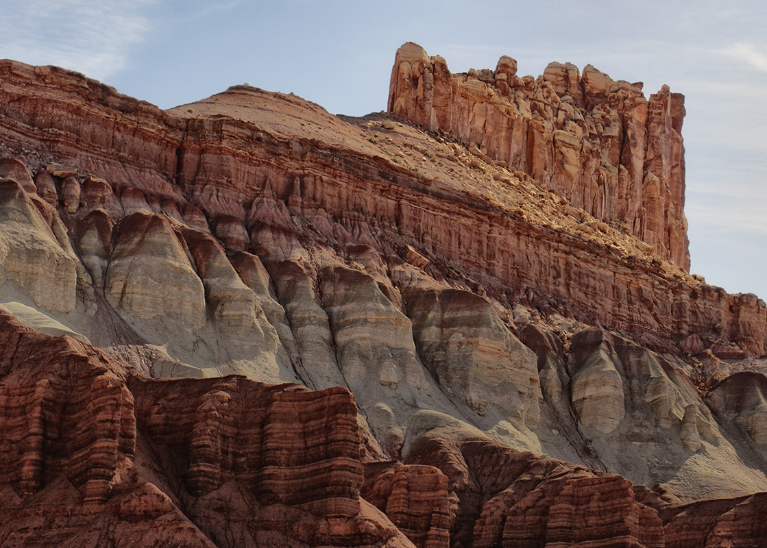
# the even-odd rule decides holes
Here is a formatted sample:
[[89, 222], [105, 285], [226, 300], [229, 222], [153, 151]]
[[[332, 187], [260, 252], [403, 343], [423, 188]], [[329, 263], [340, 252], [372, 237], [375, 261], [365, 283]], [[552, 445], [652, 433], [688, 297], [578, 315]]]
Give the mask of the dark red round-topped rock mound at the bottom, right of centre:
[[663, 546], [657, 510], [623, 477], [451, 434], [427, 435], [408, 461], [448, 477], [459, 546]]

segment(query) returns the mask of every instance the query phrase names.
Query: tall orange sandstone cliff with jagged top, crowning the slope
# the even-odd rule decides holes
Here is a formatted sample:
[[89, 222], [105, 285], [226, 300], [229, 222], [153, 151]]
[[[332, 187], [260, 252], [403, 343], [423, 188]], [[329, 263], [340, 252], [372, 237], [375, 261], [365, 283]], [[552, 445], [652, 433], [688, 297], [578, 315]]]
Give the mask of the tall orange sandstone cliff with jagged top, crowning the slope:
[[389, 110], [473, 143], [586, 212], [690, 269], [684, 217], [684, 97], [551, 63], [534, 80], [511, 57], [495, 71], [451, 74], [409, 42], [397, 51]]

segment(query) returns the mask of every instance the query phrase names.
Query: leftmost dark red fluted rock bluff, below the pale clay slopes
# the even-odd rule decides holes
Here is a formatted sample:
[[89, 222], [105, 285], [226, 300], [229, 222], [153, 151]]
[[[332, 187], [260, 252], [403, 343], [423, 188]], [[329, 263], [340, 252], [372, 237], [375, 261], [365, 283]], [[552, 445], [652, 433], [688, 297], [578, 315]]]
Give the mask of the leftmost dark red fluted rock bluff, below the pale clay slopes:
[[[12, 317], [0, 315], [6, 327]], [[84, 502], [106, 500], [136, 443], [123, 379], [78, 340], [7, 328], [0, 336], [0, 481], [27, 497], [65, 476]]]

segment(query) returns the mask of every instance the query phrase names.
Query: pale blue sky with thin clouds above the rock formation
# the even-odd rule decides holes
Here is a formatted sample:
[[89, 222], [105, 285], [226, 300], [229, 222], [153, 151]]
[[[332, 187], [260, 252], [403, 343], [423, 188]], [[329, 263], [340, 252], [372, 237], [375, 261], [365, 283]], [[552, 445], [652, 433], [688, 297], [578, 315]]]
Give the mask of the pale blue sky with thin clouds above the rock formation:
[[4, 0], [0, 58], [54, 64], [162, 108], [235, 84], [331, 113], [386, 110], [414, 41], [452, 72], [551, 61], [685, 95], [691, 272], [767, 300], [767, 4], [755, 0]]

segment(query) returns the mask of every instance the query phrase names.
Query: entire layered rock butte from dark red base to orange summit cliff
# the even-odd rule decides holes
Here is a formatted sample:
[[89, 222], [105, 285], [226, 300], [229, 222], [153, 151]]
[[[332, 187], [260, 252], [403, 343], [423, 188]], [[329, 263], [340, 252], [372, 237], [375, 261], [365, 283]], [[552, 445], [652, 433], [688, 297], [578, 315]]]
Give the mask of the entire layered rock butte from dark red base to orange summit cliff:
[[0, 61], [0, 546], [762, 546], [683, 97], [405, 44], [389, 110]]

